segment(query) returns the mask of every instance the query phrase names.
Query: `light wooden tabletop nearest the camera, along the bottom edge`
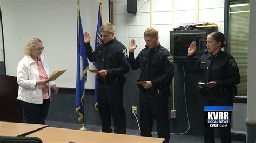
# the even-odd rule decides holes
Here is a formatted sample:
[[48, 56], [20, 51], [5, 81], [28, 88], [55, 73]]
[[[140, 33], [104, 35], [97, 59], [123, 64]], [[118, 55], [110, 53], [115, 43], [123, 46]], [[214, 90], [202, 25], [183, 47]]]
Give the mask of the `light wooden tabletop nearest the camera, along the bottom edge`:
[[65, 128], [46, 127], [27, 135], [38, 137], [43, 142], [163, 142], [163, 138], [140, 137], [114, 133], [70, 130]]

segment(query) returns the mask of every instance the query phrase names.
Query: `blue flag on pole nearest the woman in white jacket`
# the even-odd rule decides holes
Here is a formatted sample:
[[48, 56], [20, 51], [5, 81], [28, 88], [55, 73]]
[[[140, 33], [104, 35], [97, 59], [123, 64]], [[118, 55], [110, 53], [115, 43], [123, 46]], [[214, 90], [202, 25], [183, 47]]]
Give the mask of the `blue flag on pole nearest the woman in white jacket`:
[[[78, 121], [84, 118], [84, 84], [87, 82], [88, 58], [85, 52], [84, 32], [81, 24], [80, 6], [77, 11], [77, 80], [76, 80], [76, 112]], [[84, 120], [83, 120], [84, 121]]]

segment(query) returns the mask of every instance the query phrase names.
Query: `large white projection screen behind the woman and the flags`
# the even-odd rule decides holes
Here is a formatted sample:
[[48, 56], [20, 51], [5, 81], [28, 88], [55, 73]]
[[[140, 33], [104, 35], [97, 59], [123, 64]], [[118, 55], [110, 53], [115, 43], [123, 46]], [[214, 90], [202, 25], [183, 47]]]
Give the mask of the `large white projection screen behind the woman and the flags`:
[[[96, 0], [80, 0], [83, 30], [91, 34], [94, 47], [98, 22]], [[23, 47], [37, 37], [45, 47], [42, 55], [52, 72], [68, 69], [55, 82], [76, 88], [77, 0], [1, 0], [6, 75], [17, 76]], [[103, 23], [109, 22], [108, 0], [102, 0]], [[91, 63], [89, 62], [91, 68]], [[95, 89], [95, 74], [88, 73], [86, 89]]]

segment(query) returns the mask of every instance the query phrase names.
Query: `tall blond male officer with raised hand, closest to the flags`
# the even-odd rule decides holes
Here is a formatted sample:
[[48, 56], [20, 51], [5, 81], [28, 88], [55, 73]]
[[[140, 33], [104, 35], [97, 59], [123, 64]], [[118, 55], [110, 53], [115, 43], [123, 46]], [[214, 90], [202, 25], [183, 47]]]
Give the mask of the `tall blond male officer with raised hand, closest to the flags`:
[[85, 32], [84, 42], [88, 59], [96, 61], [99, 73], [98, 80], [98, 109], [102, 121], [102, 132], [111, 133], [111, 115], [114, 121], [114, 132], [126, 133], [126, 116], [123, 107], [124, 74], [129, 71], [127, 50], [125, 46], [114, 38], [115, 27], [111, 23], [104, 23], [100, 27], [103, 44], [92, 52], [91, 37]]

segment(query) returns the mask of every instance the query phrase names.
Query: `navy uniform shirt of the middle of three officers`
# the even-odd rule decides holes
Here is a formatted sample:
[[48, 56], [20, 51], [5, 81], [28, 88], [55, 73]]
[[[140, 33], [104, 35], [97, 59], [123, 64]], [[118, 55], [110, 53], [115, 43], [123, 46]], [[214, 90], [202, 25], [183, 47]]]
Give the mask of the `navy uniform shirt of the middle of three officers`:
[[131, 68], [140, 68], [140, 80], [151, 81], [153, 87], [170, 84], [174, 75], [174, 60], [172, 54], [160, 44], [155, 49], [145, 48], [137, 58], [129, 53], [128, 61]]

